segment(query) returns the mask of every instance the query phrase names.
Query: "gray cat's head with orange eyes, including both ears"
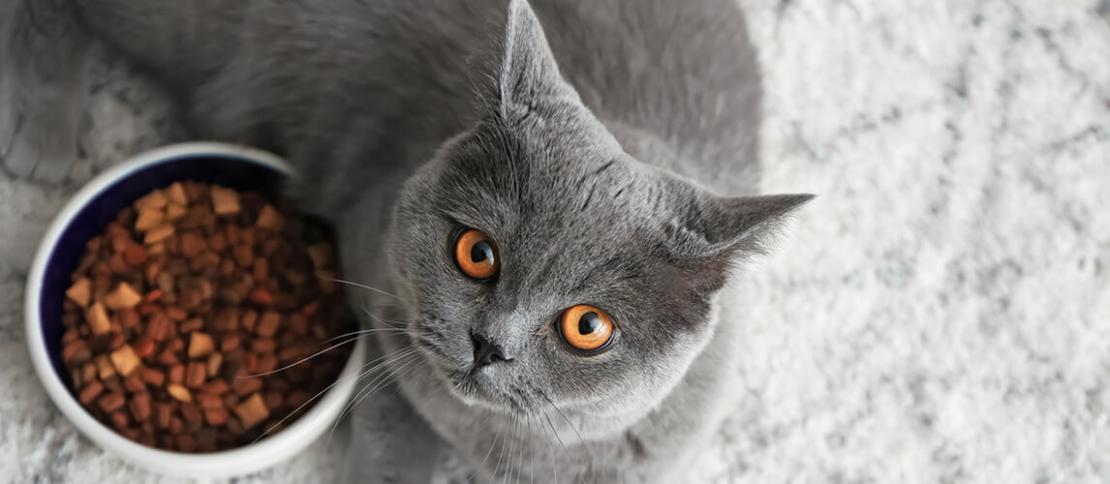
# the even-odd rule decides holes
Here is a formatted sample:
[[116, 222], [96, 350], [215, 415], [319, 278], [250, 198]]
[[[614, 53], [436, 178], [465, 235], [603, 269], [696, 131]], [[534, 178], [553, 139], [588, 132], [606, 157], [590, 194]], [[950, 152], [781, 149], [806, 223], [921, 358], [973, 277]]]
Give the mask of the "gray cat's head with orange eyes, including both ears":
[[707, 342], [734, 262], [809, 196], [723, 198], [630, 158], [509, 10], [488, 114], [394, 216], [414, 343], [468, 404], [638, 416]]

